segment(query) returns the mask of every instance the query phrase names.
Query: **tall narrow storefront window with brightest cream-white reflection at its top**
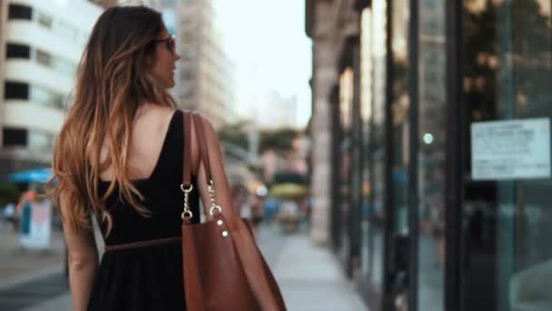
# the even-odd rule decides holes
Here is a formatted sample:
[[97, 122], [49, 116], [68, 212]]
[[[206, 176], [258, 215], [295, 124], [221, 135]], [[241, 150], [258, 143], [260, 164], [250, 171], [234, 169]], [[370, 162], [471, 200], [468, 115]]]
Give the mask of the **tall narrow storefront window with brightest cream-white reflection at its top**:
[[[383, 291], [383, 258], [385, 253], [385, 84], [386, 68], [386, 0], [374, 0], [371, 5], [371, 18], [363, 16], [362, 31], [370, 29], [370, 35], [363, 35], [360, 64], [362, 76], [360, 83], [361, 111], [368, 123], [368, 142], [366, 161], [368, 169], [368, 198], [365, 209], [366, 221], [363, 225], [363, 236], [366, 243], [363, 249], [363, 271], [368, 275], [372, 286]], [[370, 25], [369, 25], [370, 23]], [[369, 44], [369, 42], [371, 44]], [[367, 90], [367, 87], [369, 90]], [[368, 107], [366, 106], [368, 105]]]

